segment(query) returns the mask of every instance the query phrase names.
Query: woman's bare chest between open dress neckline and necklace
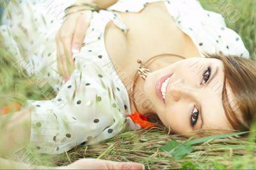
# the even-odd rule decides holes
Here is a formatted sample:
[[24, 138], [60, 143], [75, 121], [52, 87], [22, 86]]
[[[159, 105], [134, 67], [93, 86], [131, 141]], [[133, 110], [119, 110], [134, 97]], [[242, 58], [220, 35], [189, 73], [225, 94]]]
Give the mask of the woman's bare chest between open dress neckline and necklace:
[[122, 70], [134, 70], [138, 59], [146, 61], [159, 54], [179, 54], [185, 58], [200, 55], [191, 38], [177, 27], [163, 2], [148, 4], [140, 13], [120, 13], [120, 17], [129, 31], [125, 34], [109, 22], [105, 44], [114, 65]]

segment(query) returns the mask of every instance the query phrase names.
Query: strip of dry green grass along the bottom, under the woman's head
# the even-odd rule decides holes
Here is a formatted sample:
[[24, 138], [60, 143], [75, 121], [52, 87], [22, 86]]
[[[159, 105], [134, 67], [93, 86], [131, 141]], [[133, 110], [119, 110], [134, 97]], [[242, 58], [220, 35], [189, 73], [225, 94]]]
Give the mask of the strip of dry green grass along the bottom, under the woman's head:
[[193, 151], [182, 159], [159, 150], [170, 141], [183, 143], [179, 135], [167, 135], [157, 129], [125, 132], [94, 146], [79, 146], [68, 155], [53, 157], [55, 164], [67, 165], [77, 158], [100, 158], [116, 161], [133, 161], [145, 164], [147, 169], [180, 169], [186, 164], [196, 169], [256, 167], [255, 143], [243, 138], [228, 137], [206, 141], [193, 146]]

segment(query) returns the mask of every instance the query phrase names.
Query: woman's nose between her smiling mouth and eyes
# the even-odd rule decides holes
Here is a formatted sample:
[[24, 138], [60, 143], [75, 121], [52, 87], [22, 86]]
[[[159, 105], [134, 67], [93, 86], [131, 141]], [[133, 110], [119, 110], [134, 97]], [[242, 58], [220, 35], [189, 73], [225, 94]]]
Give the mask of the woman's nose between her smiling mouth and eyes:
[[175, 101], [179, 101], [181, 98], [193, 98], [196, 97], [196, 88], [184, 82], [184, 79], [179, 79], [170, 84], [170, 97]]

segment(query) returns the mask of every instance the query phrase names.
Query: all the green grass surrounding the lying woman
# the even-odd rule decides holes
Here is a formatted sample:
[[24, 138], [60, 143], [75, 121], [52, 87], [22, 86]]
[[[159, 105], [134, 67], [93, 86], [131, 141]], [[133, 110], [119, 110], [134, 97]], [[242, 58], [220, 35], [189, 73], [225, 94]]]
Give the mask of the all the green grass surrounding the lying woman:
[[[211, 3], [213, 0], [200, 2], [207, 10], [221, 12], [220, 8]], [[228, 15], [225, 16], [227, 26], [241, 35], [251, 58], [256, 59], [256, 1], [227, 0], [223, 5], [232, 5], [234, 10], [241, 13], [239, 20], [234, 23], [227, 19]], [[28, 98], [44, 99], [35, 84], [28, 81], [11, 64], [14, 60], [8, 52], [2, 49], [0, 56], [0, 107], [12, 101], [23, 103]], [[186, 143], [187, 139], [152, 128], [125, 132], [92, 146], [77, 146], [67, 153], [52, 156], [51, 160], [52, 164], [58, 166], [70, 164], [79, 158], [102, 158], [140, 162], [145, 164], [147, 169], [256, 169], [255, 137], [256, 133], [252, 130], [248, 137], [227, 137], [193, 144], [188, 154], [177, 159], [173, 156], [173, 151], [167, 153], [160, 148], [171, 141]], [[184, 150], [188, 151], [187, 148]]]

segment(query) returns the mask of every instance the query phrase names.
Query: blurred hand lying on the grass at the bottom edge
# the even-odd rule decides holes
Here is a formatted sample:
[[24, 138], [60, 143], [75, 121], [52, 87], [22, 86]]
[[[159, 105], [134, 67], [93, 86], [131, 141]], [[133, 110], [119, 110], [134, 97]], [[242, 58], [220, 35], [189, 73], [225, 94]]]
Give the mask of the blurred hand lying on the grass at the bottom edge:
[[57, 169], [145, 169], [143, 164], [134, 162], [114, 162], [97, 158], [82, 158], [76, 162]]

